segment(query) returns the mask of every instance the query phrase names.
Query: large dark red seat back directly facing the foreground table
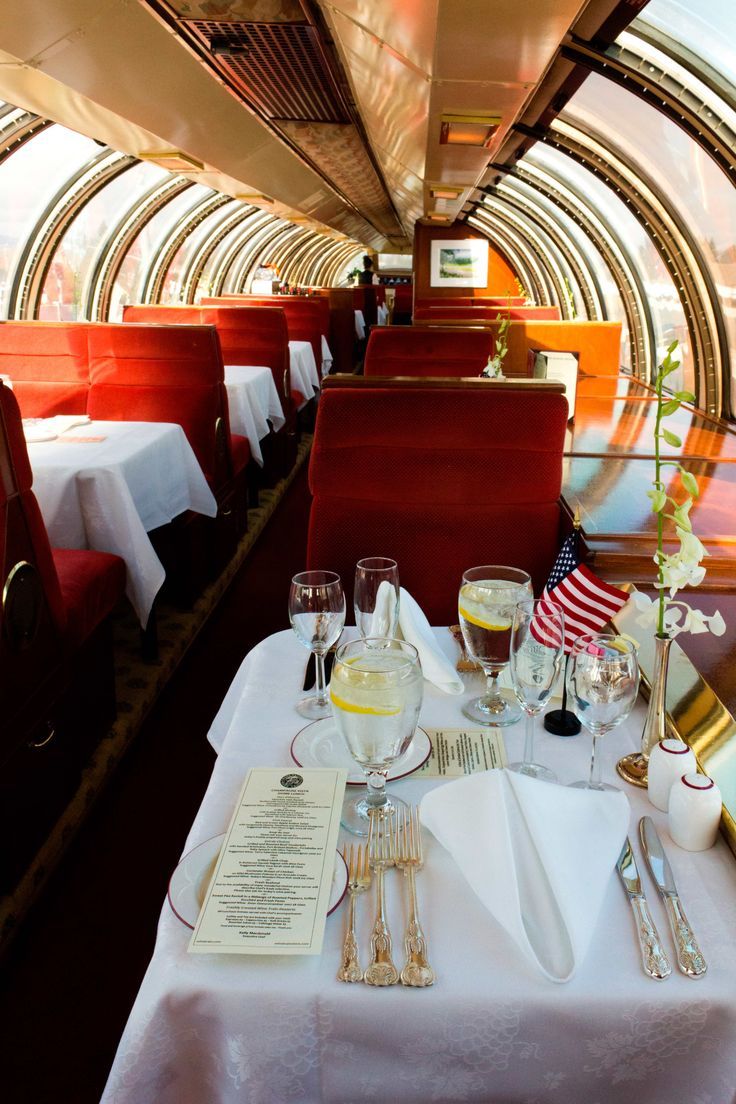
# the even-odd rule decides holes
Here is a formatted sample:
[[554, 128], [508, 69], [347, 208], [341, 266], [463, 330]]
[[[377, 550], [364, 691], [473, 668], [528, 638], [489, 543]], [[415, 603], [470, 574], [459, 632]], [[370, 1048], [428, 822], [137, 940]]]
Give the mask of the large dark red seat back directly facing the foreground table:
[[[351, 378], [352, 380], [353, 378]], [[462, 572], [523, 567], [540, 592], [558, 551], [567, 402], [533, 383], [326, 380], [309, 468], [308, 566], [392, 556], [429, 620], [452, 624]]]

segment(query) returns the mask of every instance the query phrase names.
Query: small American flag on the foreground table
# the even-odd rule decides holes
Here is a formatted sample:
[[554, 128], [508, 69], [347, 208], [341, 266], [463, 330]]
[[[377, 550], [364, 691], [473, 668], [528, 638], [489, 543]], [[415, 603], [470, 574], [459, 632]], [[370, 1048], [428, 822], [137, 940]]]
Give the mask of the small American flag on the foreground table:
[[[532, 635], [545, 643], [553, 637], [551, 626], [543, 619], [546, 602], [562, 606], [565, 614], [565, 652], [573, 650], [578, 636], [598, 633], [615, 613], [626, 605], [629, 595], [580, 563], [577, 556], [577, 531], [574, 530], [563, 543], [544, 588], [537, 611], [540, 615], [530, 626]], [[559, 637], [557, 637], [558, 639]]]

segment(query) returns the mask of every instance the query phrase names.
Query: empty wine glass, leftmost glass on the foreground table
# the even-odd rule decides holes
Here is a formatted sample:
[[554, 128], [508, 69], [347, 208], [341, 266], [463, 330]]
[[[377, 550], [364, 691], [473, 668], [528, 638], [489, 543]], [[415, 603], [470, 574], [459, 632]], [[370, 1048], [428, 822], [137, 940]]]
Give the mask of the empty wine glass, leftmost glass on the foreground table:
[[297, 639], [314, 654], [317, 693], [302, 698], [297, 711], [319, 721], [330, 716], [324, 680], [324, 656], [340, 639], [345, 624], [345, 596], [333, 571], [302, 571], [291, 580], [289, 620]]

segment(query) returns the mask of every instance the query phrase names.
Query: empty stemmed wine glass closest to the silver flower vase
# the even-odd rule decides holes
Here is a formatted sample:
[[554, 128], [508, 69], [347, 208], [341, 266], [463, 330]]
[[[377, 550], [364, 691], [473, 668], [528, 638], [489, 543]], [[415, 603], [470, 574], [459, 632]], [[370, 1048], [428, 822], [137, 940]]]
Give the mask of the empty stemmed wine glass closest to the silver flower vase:
[[577, 714], [593, 735], [590, 774], [572, 783], [580, 789], [616, 789], [600, 781], [598, 741], [627, 719], [639, 693], [639, 664], [633, 643], [612, 633], [588, 633], [573, 645], [567, 690]]

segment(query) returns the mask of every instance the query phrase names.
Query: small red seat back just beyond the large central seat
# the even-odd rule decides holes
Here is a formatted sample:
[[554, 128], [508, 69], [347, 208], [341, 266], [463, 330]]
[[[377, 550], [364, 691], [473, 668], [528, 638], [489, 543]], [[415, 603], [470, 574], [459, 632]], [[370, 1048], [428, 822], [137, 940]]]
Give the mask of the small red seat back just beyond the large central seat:
[[378, 327], [369, 338], [363, 374], [480, 375], [494, 352], [491, 330]]

